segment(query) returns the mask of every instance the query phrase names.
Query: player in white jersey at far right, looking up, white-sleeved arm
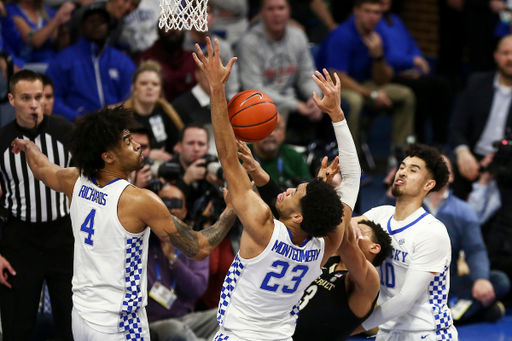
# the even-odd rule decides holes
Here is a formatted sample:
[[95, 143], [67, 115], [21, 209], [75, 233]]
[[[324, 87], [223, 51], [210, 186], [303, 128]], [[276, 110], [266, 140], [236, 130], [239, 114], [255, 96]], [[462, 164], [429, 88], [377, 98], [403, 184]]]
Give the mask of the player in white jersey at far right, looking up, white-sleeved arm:
[[422, 207], [449, 171], [434, 148], [413, 145], [392, 185], [396, 208], [380, 206], [354, 218], [372, 220], [392, 239], [380, 266], [378, 307], [357, 332], [379, 326], [377, 341], [458, 340], [448, 308], [451, 245], [446, 227]]

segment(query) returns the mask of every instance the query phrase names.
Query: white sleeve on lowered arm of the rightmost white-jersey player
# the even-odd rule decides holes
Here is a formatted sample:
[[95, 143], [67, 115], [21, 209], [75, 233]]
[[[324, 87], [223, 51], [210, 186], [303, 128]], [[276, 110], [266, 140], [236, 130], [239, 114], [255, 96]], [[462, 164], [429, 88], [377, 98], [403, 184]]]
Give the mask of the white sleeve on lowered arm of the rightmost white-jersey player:
[[370, 317], [362, 323], [363, 328], [365, 330], [375, 328], [407, 313], [433, 279], [434, 274], [431, 272], [409, 268], [402, 290], [395, 297], [375, 308]]

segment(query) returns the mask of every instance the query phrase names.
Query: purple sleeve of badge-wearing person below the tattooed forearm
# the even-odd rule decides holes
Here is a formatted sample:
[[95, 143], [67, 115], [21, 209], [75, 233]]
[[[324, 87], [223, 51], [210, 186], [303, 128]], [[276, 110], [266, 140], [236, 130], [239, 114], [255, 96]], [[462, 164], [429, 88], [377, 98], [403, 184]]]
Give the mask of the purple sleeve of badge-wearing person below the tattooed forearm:
[[184, 260], [180, 256], [180, 260], [174, 269], [171, 269], [171, 274], [176, 278], [176, 288], [180, 293], [190, 299], [197, 299], [201, 297], [208, 286], [208, 267], [210, 259], [198, 261]]

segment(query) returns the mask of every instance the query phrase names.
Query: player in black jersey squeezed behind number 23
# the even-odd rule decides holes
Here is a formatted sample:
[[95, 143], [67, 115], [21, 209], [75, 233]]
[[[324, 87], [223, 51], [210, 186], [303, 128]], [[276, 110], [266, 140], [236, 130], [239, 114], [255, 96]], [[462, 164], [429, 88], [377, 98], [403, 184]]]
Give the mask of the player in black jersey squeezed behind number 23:
[[[237, 144], [245, 170], [254, 179], [262, 199], [274, 215], [278, 214], [273, 207], [281, 190], [254, 160], [245, 143]], [[327, 167], [324, 158], [318, 177], [330, 181], [337, 171], [336, 163], [337, 160]], [[294, 341], [345, 340], [373, 311], [380, 288], [376, 267], [391, 252], [391, 237], [368, 220], [351, 221], [351, 225], [345, 229], [338, 252], [302, 296]]]

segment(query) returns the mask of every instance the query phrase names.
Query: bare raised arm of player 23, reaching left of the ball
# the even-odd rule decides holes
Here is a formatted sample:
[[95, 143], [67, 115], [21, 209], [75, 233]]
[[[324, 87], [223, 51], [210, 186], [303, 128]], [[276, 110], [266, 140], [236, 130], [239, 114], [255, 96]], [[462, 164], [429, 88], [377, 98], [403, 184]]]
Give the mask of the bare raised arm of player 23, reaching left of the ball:
[[207, 38], [207, 47], [208, 56], [205, 57], [199, 46], [196, 46], [197, 53], [194, 54], [194, 59], [210, 83], [215, 145], [233, 199], [233, 207], [247, 233], [251, 234], [253, 238], [262, 237], [262, 242], [266, 244], [271, 230], [262, 227], [273, 226], [272, 213], [252, 190], [249, 177], [238, 161], [236, 138], [228, 116], [224, 85], [236, 58], [232, 58], [224, 67], [220, 60], [218, 42], [215, 41], [215, 53], [209, 38]]

